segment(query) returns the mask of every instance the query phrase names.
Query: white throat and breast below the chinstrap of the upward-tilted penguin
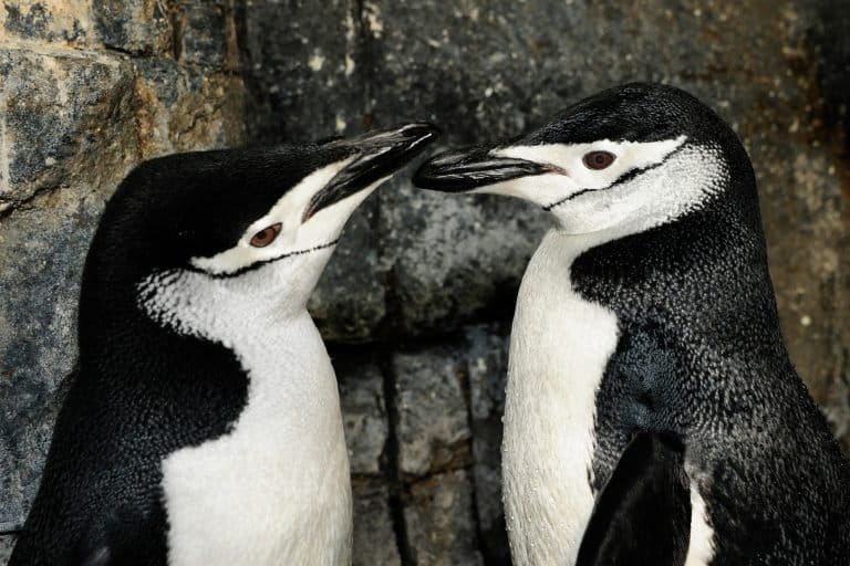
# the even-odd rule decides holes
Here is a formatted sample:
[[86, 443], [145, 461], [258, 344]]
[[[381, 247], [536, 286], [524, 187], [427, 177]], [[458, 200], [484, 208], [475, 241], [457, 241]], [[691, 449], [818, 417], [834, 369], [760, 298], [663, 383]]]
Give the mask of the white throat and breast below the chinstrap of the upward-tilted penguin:
[[178, 272], [143, 285], [155, 319], [224, 344], [249, 378], [230, 432], [163, 461], [172, 565], [350, 564], [349, 460], [324, 344], [303, 304], [274, 308], [271, 291], [258, 296], [247, 292], [263, 289], [257, 281], [239, 281], [273, 283], [281, 270]]

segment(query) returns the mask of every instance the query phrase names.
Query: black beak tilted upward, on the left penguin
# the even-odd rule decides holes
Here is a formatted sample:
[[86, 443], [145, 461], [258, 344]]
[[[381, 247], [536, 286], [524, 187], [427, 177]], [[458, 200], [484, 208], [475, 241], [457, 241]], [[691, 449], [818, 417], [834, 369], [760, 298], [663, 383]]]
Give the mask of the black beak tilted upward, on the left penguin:
[[436, 126], [419, 122], [325, 144], [333, 150], [349, 149], [353, 159], [313, 196], [301, 221], [305, 222], [323, 208], [386, 179], [438, 135]]

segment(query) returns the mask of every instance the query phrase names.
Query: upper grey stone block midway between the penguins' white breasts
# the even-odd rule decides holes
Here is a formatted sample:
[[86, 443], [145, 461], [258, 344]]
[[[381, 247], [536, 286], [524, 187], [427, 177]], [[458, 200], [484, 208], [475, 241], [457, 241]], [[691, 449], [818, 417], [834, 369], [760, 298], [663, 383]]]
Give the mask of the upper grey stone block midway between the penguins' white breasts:
[[434, 347], [395, 354], [398, 470], [423, 476], [469, 463], [463, 353]]

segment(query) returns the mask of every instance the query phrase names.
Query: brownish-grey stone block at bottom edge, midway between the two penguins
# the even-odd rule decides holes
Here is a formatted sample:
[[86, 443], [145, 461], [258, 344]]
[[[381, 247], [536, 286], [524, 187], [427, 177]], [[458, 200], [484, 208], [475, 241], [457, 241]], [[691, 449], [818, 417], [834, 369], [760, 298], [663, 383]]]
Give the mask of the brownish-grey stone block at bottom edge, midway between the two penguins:
[[411, 564], [480, 566], [473, 488], [465, 471], [453, 471], [411, 486], [404, 510]]

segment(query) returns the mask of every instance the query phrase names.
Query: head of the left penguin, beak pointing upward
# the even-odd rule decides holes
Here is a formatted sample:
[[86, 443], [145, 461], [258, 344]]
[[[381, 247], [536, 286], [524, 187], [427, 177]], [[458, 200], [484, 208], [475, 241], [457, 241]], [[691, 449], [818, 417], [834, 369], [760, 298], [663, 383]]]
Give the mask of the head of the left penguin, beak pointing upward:
[[87, 273], [101, 287], [132, 286], [148, 313], [189, 327], [246, 304], [303, 307], [352, 212], [435, 136], [408, 124], [146, 161], [107, 203]]

